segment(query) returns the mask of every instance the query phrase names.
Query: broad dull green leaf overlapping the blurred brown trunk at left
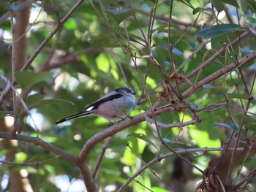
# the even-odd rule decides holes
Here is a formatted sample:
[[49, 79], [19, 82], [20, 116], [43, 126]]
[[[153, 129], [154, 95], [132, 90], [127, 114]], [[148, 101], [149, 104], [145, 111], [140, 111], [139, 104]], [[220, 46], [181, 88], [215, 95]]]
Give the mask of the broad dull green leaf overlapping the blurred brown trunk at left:
[[50, 72], [15, 72], [15, 80], [20, 84], [21, 88], [28, 88], [37, 82], [46, 80], [50, 76]]

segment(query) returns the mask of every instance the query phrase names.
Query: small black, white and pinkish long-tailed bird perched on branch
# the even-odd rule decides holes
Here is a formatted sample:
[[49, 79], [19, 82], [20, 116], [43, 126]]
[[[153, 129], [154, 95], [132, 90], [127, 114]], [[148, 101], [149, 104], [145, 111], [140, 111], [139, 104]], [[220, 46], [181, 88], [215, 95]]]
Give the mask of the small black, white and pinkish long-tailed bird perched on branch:
[[124, 120], [132, 112], [133, 107], [135, 107], [135, 92], [131, 88], [117, 88], [89, 104], [83, 112], [63, 118], [56, 124], [88, 115], [101, 116], [112, 124], [112, 120]]

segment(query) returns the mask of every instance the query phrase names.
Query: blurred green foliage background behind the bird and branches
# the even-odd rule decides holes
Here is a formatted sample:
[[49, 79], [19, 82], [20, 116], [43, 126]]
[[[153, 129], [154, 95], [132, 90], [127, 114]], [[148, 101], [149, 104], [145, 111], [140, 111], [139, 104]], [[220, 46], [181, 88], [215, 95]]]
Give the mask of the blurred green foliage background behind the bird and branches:
[[[53, 0], [31, 4], [29, 30], [24, 34], [28, 58], [75, 3]], [[12, 12], [15, 25], [15, 12], [19, 9], [18, 1], [4, 1], [0, 9], [1, 123], [9, 123], [10, 130], [15, 123], [18, 133], [38, 136], [75, 156], [88, 139], [108, 128], [108, 121], [88, 117], [57, 126], [56, 120], [82, 111], [92, 101], [121, 86], [137, 92], [140, 102], [131, 115], [138, 115], [159, 101], [158, 94], [165, 87], [163, 82], [176, 72], [181, 82], [174, 77], [168, 80], [170, 85], [176, 85], [173, 101], [178, 101], [184, 110], [162, 113], [156, 120], [165, 124], [187, 122], [195, 118], [195, 113], [176, 93], [193, 88], [219, 69], [239, 64], [239, 59], [255, 53], [256, 48], [253, 0], [84, 1], [39, 50], [29, 67], [14, 74], [18, 100], [22, 98], [26, 102], [28, 114], [20, 101], [15, 103], [12, 94], [4, 92], [7, 88], [4, 77], [10, 79], [13, 66], [12, 19], [4, 19], [4, 15]], [[215, 28], [217, 24], [221, 27]], [[203, 67], [222, 47], [245, 33]], [[202, 69], [187, 77], [197, 67]], [[193, 125], [157, 129], [144, 121], [116, 134], [95, 179], [99, 191], [118, 191], [142, 166], [172, 150], [187, 149], [189, 153], [182, 153], [184, 158], [201, 170], [209, 164], [215, 166], [221, 151], [202, 149], [227, 146], [236, 140], [240, 141], [238, 147], [249, 148], [249, 152], [236, 153], [233, 163], [230, 163], [232, 153], [226, 153], [223, 159], [227, 159], [227, 164], [218, 163], [217, 172], [225, 185], [227, 169], [233, 164], [231, 184], [241, 182], [255, 170], [256, 101], [250, 97], [256, 92], [255, 72], [255, 58], [252, 58], [187, 96], [186, 103], [198, 110], [200, 116], [200, 121]], [[161, 106], [167, 104], [170, 100], [165, 98]], [[13, 115], [14, 106], [16, 115]], [[169, 147], [162, 144], [157, 130]], [[87, 162], [90, 169], [94, 169], [104, 143], [105, 140], [99, 142], [91, 151]], [[13, 158], [7, 159], [7, 154], [13, 151]], [[22, 173], [32, 191], [85, 190], [78, 168], [42, 147], [29, 142], [18, 142], [12, 147], [1, 145], [0, 156], [1, 160], [15, 163], [45, 161], [38, 166], [1, 164], [1, 191], [10, 191], [14, 182], [9, 176], [12, 169]], [[241, 191], [256, 191], [253, 177], [241, 186]], [[201, 180], [202, 173], [197, 169], [177, 155], [167, 155], [140, 172], [124, 191], [195, 191]]]

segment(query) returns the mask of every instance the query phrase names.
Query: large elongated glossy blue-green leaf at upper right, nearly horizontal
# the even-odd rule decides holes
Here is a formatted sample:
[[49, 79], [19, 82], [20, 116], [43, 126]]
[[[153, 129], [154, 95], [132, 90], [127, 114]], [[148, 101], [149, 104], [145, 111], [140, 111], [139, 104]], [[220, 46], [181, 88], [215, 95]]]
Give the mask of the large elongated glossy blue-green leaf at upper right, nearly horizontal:
[[233, 31], [237, 28], [240, 28], [240, 26], [237, 24], [222, 24], [216, 26], [208, 26], [198, 31], [195, 34], [195, 38], [201, 37], [203, 39], [210, 39], [222, 34], [226, 34], [227, 32]]

